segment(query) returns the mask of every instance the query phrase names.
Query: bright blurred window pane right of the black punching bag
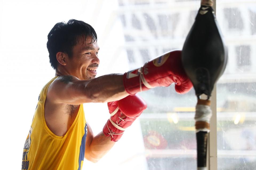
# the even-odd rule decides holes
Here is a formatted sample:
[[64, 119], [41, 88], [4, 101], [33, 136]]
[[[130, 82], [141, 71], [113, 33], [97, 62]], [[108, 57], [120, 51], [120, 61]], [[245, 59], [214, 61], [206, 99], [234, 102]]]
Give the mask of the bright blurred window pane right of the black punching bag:
[[[256, 164], [256, 2], [240, 0], [226, 8], [228, 4], [217, 3], [230, 71], [217, 84], [218, 170], [249, 170]], [[222, 9], [224, 15], [219, 15]]]

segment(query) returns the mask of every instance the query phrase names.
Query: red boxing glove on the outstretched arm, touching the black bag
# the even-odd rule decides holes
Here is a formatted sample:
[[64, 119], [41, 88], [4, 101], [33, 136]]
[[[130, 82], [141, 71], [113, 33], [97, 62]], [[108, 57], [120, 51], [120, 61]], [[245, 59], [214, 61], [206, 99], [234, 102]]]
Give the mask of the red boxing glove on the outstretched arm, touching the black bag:
[[159, 86], [175, 83], [177, 93], [184, 94], [193, 87], [181, 61], [181, 50], [167, 52], [139, 69], [128, 71], [123, 76], [125, 90], [134, 95]]

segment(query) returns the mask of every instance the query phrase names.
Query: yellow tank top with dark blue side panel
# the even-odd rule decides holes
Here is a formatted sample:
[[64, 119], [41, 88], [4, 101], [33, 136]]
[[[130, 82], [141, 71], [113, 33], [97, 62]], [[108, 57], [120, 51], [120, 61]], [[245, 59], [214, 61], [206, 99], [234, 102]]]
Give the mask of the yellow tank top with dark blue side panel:
[[45, 122], [47, 89], [56, 78], [43, 87], [38, 97], [37, 108], [23, 148], [21, 169], [82, 169], [87, 135], [83, 104], [80, 105], [75, 121], [64, 136], [53, 134]]

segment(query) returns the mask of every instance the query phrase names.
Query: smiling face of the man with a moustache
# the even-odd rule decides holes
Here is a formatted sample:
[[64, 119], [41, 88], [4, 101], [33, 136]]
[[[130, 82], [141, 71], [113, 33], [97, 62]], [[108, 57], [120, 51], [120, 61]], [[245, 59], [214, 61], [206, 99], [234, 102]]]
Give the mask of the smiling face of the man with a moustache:
[[91, 43], [91, 37], [79, 39], [73, 47], [73, 56], [69, 58], [69, 70], [71, 74], [80, 80], [90, 80], [96, 77], [99, 65], [99, 46], [97, 42]]

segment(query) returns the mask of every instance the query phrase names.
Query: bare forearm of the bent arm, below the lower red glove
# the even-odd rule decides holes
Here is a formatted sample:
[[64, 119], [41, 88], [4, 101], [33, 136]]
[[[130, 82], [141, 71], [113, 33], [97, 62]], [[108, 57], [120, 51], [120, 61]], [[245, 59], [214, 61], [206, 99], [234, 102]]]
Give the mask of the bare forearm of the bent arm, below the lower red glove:
[[107, 137], [101, 131], [98, 135], [96, 135], [90, 146], [89, 153], [86, 155], [86, 159], [91, 162], [98, 162], [113, 146], [115, 142], [111, 141], [110, 137]]

